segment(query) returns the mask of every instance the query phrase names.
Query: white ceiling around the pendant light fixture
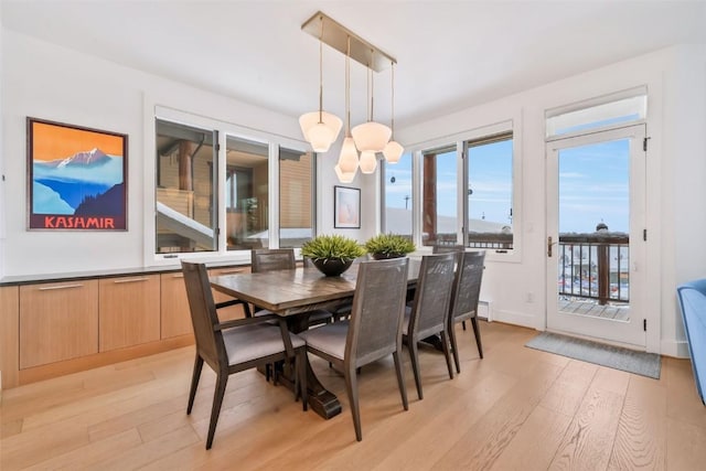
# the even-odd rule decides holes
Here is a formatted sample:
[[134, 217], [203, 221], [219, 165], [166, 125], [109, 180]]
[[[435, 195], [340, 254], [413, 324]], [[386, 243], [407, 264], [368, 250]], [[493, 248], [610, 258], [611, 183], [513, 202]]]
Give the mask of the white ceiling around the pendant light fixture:
[[[681, 43], [706, 43], [705, 1], [1, 0], [9, 30], [298, 117], [318, 108], [321, 10], [397, 60], [404, 127]], [[324, 109], [344, 116], [345, 61], [323, 47]], [[374, 74], [374, 117], [392, 75]], [[351, 65], [351, 120], [367, 111]]]

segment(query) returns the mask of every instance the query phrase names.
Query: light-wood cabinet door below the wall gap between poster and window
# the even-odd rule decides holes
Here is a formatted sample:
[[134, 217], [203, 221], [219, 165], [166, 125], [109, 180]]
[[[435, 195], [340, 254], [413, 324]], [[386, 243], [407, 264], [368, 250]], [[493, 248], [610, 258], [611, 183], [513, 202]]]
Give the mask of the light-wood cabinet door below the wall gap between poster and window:
[[159, 275], [100, 279], [101, 352], [160, 338]]

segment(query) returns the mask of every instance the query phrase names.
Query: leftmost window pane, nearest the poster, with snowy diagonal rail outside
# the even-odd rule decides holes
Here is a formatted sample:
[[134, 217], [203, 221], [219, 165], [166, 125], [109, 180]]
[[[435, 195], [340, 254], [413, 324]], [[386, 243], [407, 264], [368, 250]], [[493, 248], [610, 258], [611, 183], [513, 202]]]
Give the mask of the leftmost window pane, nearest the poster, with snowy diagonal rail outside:
[[157, 253], [215, 250], [216, 131], [157, 120]]

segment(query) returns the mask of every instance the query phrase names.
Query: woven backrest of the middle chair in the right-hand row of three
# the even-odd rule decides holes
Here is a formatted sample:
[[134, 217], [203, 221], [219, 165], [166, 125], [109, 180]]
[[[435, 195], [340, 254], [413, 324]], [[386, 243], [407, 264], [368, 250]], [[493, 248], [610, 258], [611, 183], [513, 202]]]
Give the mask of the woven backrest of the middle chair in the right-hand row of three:
[[427, 336], [446, 329], [459, 256], [449, 251], [421, 257], [407, 335]]

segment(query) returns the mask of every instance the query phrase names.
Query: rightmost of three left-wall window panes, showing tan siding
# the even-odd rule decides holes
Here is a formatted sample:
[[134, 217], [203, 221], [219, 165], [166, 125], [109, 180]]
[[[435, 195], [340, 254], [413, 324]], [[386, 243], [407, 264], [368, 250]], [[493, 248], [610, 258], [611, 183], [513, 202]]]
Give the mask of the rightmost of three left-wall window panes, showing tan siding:
[[279, 150], [279, 246], [301, 247], [313, 237], [313, 157]]

